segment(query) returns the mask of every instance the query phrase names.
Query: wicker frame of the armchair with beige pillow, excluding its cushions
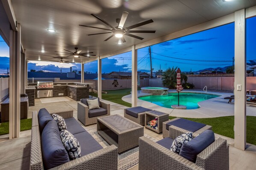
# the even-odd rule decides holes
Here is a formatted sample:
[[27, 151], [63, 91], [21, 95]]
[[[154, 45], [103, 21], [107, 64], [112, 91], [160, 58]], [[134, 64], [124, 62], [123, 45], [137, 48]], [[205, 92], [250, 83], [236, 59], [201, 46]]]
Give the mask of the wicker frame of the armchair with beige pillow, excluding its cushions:
[[107, 115], [95, 116], [89, 118], [89, 107], [80, 101], [77, 102], [77, 119], [82, 122], [85, 126], [90, 124], [96, 124], [97, 118], [110, 115], [110, 104], [106, 104], [103, 101], [100, 101], [101, 107], [107, 109]]

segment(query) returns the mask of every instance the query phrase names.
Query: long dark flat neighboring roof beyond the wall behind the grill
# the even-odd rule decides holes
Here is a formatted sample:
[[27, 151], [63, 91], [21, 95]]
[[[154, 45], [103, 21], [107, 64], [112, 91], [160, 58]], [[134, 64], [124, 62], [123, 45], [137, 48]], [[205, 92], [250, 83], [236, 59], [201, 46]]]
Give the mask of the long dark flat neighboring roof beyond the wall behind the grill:
[[[27, 72], [28, 78], [60, 78], [60, 80], [80, 80], [81, 75], [75, 73], [74, 78], [67, 78], [67, 73], [63, 72]], [[98, 74], [84, 74], [84, 80], [93, 80], [98, 78]]]

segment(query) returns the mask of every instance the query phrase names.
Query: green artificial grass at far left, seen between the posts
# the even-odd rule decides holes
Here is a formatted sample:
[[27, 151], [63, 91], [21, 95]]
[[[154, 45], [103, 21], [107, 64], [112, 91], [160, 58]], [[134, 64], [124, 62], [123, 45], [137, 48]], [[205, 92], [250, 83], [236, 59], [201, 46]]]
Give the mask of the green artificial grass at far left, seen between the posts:
[[[30, 130], [32, 127], [32, 118], [21, 119], [21, 131]], [[3, 122], [0, 124], [0, 135], [9, 133], [9, 122]]]

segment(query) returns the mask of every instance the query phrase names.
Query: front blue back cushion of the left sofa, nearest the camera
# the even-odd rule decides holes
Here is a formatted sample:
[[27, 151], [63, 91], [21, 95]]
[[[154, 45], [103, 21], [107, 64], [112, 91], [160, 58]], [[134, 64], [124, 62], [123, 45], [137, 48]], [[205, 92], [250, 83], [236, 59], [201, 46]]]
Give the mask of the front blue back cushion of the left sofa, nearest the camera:
[[47, 170], [69, 161], [56, 121], [46, 124], [41, 135], [41, 148], [44, 168]]

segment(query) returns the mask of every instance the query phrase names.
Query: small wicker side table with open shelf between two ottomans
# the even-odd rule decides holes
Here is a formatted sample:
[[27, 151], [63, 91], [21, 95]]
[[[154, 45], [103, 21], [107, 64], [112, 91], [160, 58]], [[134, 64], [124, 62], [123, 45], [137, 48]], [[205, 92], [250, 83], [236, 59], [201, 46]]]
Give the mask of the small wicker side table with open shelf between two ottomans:
[[[154, 120], [155, 118], [158, 118], [158, 130], [149, 127], [147, 123], [149, 121]], [[156, 133], [162, 133], [163, 132], [163, 122], [169, 120], [169, 114], [164, 112], [159, 112], [157, 110], [151, 110], [148, 112], [145, 112], [145, 127], [147, 129], [150, 129]]]

